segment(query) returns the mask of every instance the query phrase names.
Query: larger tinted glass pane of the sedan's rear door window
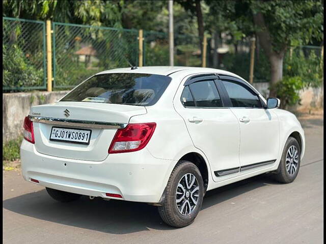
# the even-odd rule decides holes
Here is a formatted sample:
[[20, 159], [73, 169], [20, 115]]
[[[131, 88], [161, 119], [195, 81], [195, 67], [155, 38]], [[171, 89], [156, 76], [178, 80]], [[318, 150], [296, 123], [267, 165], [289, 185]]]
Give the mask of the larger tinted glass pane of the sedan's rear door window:
[[205, 80], [189, 85], [194, 96], [196, 107], [216, 108], [223, 107], [222, 100], [214, 81]]

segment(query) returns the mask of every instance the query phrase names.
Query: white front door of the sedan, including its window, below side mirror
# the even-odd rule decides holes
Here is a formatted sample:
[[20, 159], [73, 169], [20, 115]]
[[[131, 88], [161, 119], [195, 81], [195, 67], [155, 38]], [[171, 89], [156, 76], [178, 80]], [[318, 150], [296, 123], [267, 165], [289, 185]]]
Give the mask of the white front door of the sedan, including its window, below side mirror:
[[263, 101], [245, 82], [222, 77], [231, 100], [231, 111], [240, 124], [241, 172], [268, 167], [278, 158], [280, 131], [277, 115], [264, 109]]

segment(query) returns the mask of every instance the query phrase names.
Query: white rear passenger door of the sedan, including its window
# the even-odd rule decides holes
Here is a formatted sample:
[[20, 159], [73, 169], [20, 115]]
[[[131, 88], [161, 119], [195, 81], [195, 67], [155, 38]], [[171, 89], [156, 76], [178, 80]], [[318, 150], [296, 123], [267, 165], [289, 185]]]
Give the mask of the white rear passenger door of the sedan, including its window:
[[239, 123], [224, 106], [216, 87], [216, 76], [189, 80], [174, 99], [195, 147], [208, 158], [214, 180], [225, 180], [239, 172]]

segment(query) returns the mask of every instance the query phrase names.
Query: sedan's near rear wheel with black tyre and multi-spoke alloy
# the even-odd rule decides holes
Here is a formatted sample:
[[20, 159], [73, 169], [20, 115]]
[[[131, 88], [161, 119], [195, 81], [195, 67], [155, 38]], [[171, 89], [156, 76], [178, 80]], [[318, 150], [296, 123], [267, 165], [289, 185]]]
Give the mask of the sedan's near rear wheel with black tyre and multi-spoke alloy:
[[158, 213], [168, 225], [187, 226], [198, 215], [203, 196], [203, 178], [198, 167], [192, 162], [180, 161], [171, 173]]

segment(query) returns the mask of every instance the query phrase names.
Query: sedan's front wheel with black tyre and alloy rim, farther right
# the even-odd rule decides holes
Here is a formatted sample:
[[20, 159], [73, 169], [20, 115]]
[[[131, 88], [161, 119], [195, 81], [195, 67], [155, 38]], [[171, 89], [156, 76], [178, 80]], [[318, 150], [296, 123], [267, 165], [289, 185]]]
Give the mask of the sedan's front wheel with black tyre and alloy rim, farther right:
[[281, 183], [292, 182], [300, 168], [301, 148], [297, 140], [289, 137], [285, 143], [282, 158], [275, 175], [275, 179]]

